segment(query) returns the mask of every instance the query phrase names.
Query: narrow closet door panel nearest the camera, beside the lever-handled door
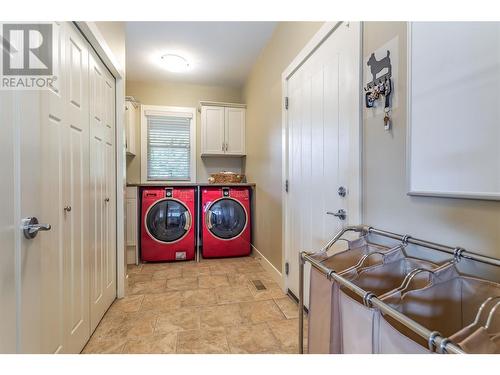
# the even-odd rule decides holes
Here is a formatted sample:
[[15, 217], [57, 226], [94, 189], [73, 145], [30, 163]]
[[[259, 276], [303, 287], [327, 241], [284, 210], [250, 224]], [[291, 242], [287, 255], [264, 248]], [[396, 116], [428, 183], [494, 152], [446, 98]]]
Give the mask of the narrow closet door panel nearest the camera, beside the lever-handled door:
[[65, 25], [54, 23], [54, 66], [59, 71], [53, 89], [41, 93], [42, 217], [52, 229], [41, 241], [42, 353], [64, 350], [63, 135], [65, 133]]

